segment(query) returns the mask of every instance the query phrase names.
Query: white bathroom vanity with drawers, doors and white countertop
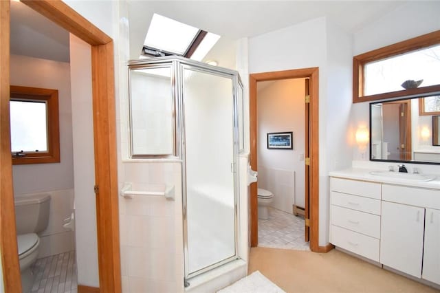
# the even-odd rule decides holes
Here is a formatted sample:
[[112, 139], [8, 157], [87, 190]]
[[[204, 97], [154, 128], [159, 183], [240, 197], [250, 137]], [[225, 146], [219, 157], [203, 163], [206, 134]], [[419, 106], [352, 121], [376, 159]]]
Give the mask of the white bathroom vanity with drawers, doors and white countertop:
[[333, 245], [440, 285], [440, 177], [366, 169], [330, 177]]

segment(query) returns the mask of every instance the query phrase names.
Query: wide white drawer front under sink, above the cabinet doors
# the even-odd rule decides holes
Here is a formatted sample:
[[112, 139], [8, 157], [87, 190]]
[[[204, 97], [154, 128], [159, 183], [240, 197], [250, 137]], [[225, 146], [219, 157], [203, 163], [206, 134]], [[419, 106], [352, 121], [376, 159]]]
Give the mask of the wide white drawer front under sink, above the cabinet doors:
[[383, 184], [382, 194], [387, 202], [440, 210], [439, 190]]

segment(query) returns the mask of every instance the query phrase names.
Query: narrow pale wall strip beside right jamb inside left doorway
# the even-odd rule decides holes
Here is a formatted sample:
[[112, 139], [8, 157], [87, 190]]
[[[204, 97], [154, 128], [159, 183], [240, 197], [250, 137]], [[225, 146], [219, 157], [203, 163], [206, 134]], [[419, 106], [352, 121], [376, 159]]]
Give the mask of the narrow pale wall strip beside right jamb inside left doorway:
[[76, 266], [78, 284], [99, 287], [90, 45], [71, 34]]

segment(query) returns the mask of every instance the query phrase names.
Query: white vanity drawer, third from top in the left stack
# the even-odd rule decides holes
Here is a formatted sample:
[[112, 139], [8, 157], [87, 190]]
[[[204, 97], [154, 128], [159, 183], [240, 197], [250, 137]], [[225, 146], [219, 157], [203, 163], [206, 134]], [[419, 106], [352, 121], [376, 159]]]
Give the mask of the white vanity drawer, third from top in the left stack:
[[331, 206], [331, 224], [380, 239], [380, 217]]

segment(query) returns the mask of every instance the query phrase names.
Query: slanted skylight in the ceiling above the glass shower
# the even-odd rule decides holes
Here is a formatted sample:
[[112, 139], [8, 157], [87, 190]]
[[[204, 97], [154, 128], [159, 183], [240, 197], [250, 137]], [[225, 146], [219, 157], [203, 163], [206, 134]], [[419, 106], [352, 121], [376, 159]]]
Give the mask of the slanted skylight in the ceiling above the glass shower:
[[141, 58], [179, 55], [201, 61], [219, 39], [217, 34], [153, 14]]

